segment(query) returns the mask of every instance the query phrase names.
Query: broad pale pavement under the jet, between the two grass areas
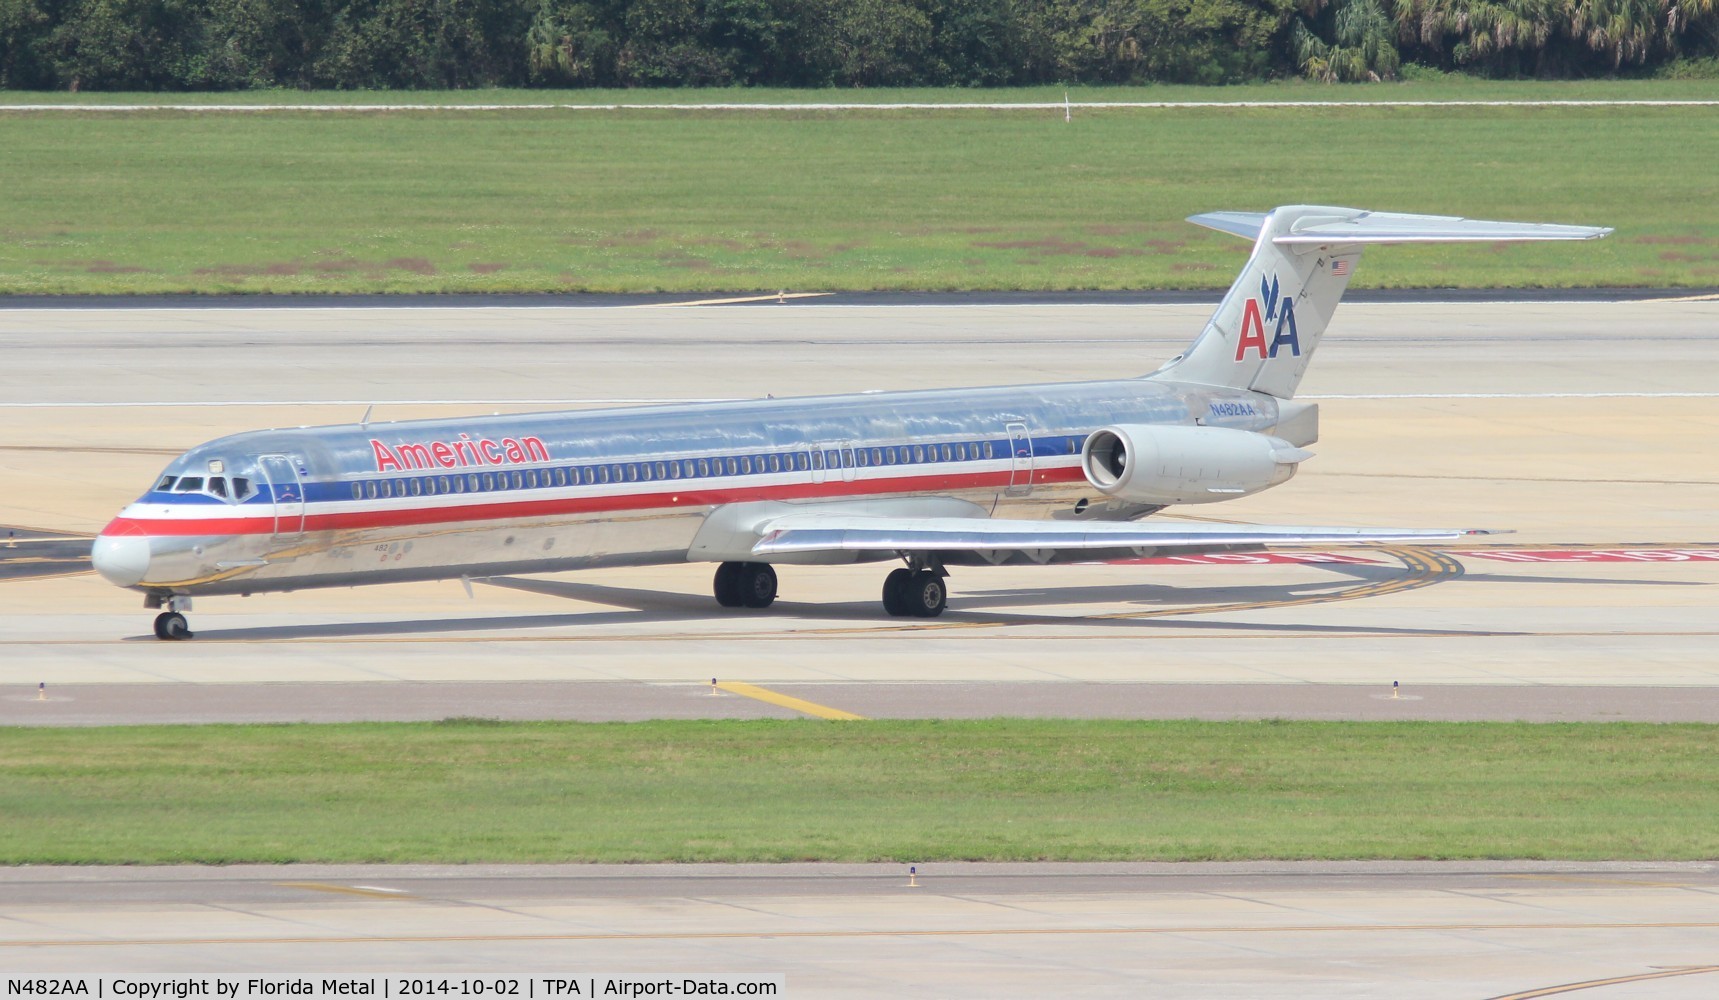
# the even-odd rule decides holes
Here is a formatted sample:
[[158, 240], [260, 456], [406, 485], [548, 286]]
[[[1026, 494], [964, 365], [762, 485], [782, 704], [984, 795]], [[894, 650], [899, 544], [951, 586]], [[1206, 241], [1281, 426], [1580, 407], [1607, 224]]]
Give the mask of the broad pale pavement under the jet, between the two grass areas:
[[[1710, 297], [1344, 306], [1303, 387], [1322, 405], [1317, 457], [1260, 497], [1174, 514], [1516, 531], [1449, 552], [963, 570], [935, 622], [884, 617], [880, 567], [784, 569], [779, 603], [741, 613], [710, 600], [707, 565], [500, 579], [474, 596], [442, 582], [217, 598], [191, 617], [198, 639], [162, 644], [139, 598], [81, 572], [81, 541], [65, 538], [98, 531], [170, 455], [229, 431], [371, 405], [387, 421], [1109, 376], [1153, 368], [1207, 313], [0, 309], [0, 526], [15, 533], [0, 548], [0, 720], [119, 722], [127, 701], [136, 720], [253, 718], [277, 696], [304, 718], [366, 704], [397, 716], [359, 696], [378, 684], [411, 689], [394, 706], [428, 718], [512, 715], [517, 689], [476, 687], [512, 684], [572, 686], [535, 699], [578, 718], [779, 711], [701, 698], [712, 677], [856, 715], [1377, 716], [1403, 708], [1375, 704], [1396, 680], [1437, 718], [1710, 716], [1700, 698], [1666, 708], [1664, 694], [1719, 689]], [[246, 696], [189, 694], [213, 684]], [[311, 687], [273, 687], [291, 684]], [[352, 684], [346, 708], [318, 684]], [[1224, 689], [1238, 684], [1258, 687]], [[103, 686], [165, 687], [127, 699], [141, 687]], [[1074, 694], [1104, 686], [1141, 694]], [[1325, 691], [1275, 694], [1294, 686]], [[1542, 686], [1561, 696], [1482, 692]]]

